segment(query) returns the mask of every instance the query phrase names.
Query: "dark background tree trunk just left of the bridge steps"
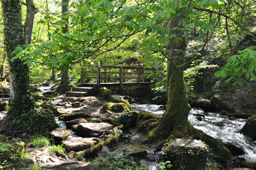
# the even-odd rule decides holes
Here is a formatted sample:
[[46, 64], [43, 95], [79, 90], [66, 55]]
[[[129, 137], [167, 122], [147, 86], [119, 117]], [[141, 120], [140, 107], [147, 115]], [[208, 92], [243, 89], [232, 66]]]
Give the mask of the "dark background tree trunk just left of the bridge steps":
[[[62, 0], [61, 5], [62, 5], [62, 19], [66, 20], [68, 22], [68, 17], [67, 17], [67, 12], [69, 10], [69, 0]], [[66, 33], [68, 32], [68, 25], [65, 24], [65, 27], [62, 27], [62, 32]], [[60, 80], [60, 85], [56, 89], [57, 92], [59, 93], [65, 93], [67, 91], [70, 91], [70, 80], [69, 80], [69, 71], [68, 70], [61, 70], [61, 80]]]

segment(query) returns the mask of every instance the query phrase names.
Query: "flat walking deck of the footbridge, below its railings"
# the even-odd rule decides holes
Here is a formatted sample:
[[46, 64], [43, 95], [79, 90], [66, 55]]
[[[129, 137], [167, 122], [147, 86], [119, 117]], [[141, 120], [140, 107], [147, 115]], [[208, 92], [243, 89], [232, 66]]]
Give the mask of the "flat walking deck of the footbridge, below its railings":
[[[153, 82], [140, 82], [139, 88], [148, 87]], [[97, 83], [82, 83], [79, 87], [94, 87], [97, 86]], [[106, 87], [107, 89], [120, 89], [120, 83], [100, 83], [100, 88]], [[138, 88], [138, 82], [123, 82], [122, 83], [123, 89], [131, 89], [131, 88]]]

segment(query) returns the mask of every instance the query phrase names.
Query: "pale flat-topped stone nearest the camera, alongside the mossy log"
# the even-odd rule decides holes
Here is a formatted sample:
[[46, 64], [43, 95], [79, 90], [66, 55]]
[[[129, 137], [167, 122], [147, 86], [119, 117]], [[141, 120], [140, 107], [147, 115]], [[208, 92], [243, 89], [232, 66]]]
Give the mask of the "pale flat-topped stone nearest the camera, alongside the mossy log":
[[90, 149], [91, 147], [98, 144], [97, 141], [92, 139], [95, 139], [95, 138], [77, 137], [77, 138], [72, 138], [68, 140], [63, 140], [61, 141], [61, 144], [63, 144], [63, 147], [66, 149], [66, 152], [70, 152], [70, 151], [79, 152], [86, 149]]

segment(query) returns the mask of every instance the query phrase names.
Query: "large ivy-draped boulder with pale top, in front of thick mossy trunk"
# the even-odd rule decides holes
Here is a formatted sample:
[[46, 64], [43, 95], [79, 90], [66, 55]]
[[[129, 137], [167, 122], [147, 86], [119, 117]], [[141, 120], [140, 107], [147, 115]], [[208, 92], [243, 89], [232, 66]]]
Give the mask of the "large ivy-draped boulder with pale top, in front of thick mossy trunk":
[[206, 169], [209, 156], [208, 146], [195, 139], [177, 139], [169, 141], [164, 147], [165, 157], [176, 168], [186, 167], [188, 170]]

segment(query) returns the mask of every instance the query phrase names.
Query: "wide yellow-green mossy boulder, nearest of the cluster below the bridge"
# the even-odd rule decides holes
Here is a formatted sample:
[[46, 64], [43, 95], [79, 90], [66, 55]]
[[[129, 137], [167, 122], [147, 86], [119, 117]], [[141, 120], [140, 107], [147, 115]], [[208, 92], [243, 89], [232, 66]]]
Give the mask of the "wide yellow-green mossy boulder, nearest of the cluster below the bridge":
[[105, 103], [101, 109], [103, 112], [131, 112], [125, 103]]

